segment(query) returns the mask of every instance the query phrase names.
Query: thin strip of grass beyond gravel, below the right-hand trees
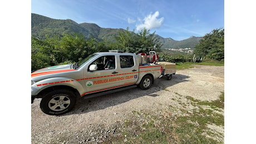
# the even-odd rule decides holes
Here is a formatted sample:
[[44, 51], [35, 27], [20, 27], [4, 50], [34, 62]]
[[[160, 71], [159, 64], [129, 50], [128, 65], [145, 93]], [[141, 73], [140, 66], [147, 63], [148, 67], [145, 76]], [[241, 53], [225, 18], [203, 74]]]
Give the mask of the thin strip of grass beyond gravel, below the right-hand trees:
[[224, 62], [222, 61], [203, 61], [201, 63], [176, 63], [176, 68], [179, 69], [189, 69], [194, 68], [194, 65], [211, 65], [211, 66], [224, 66]]

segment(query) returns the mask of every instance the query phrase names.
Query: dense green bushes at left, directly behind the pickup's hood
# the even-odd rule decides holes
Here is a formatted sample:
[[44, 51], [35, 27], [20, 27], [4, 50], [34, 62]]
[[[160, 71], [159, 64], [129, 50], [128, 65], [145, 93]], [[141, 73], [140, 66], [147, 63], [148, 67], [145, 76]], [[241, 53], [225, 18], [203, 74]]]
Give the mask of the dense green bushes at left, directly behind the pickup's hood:
[[75, 63], [104, 49], [95, 38], [86, 40], [82, 34], [63, 34], [62, 37], [31, 38], [31, 70], [52, 65]]

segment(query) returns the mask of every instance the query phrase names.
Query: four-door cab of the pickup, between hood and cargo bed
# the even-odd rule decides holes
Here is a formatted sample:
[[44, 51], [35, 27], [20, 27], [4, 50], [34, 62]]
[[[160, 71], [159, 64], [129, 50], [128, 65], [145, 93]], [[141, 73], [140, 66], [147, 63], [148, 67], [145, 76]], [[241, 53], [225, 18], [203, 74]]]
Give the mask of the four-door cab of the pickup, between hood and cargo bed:
[[81, 69], [86, 88], [82, 95], [136, 84], [139, 78], [139, 63], [129, 53], [100, 53]]

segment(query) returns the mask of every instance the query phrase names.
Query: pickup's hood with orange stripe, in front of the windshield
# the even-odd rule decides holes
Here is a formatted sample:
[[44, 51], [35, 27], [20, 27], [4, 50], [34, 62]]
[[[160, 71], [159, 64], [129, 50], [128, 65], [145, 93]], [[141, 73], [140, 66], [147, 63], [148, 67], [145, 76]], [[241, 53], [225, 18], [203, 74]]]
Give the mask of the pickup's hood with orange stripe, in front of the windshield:
[[42, 68], [40, 70], [34, 71], [31, 73], [31, 78], [34, 76], [39, 75], [47, 75], [47, 74], [55, 74], [55, 73], [63, 73], [66, 71], [73, 71], [74, 69], [71, 68], [72, 64], [65, 64], [65, 65], [56, 65], [50, 66], [48, 68]]

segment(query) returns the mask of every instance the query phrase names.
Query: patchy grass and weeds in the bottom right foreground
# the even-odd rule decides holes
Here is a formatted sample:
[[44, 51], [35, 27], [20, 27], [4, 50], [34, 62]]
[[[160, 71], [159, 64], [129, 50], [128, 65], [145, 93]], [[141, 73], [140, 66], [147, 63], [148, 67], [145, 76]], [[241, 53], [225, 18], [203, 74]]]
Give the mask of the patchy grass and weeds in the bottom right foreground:
[[[186, 97], [198, 110], [184, 115], [173, 115], [176, 107], [157, 111], [132, 111], [133, 117], [125, 120], [122, 136], [112, 138], [112, 143], [223, 143], [212, 137], [223, 138], [223, 133], [209, 130], [208, 125], [224, 126], [224, 115], [214, 112], [224, 109], [224, 92], [215, 101], [199, 101]], [[207, 108], [205, 108], [205, 106]], [[203, 109], [204, 107], [204, 109]], [[140, 117], [139, 120], [137, 117]], [[205, 136], [208, 135], [208, 136]]]

